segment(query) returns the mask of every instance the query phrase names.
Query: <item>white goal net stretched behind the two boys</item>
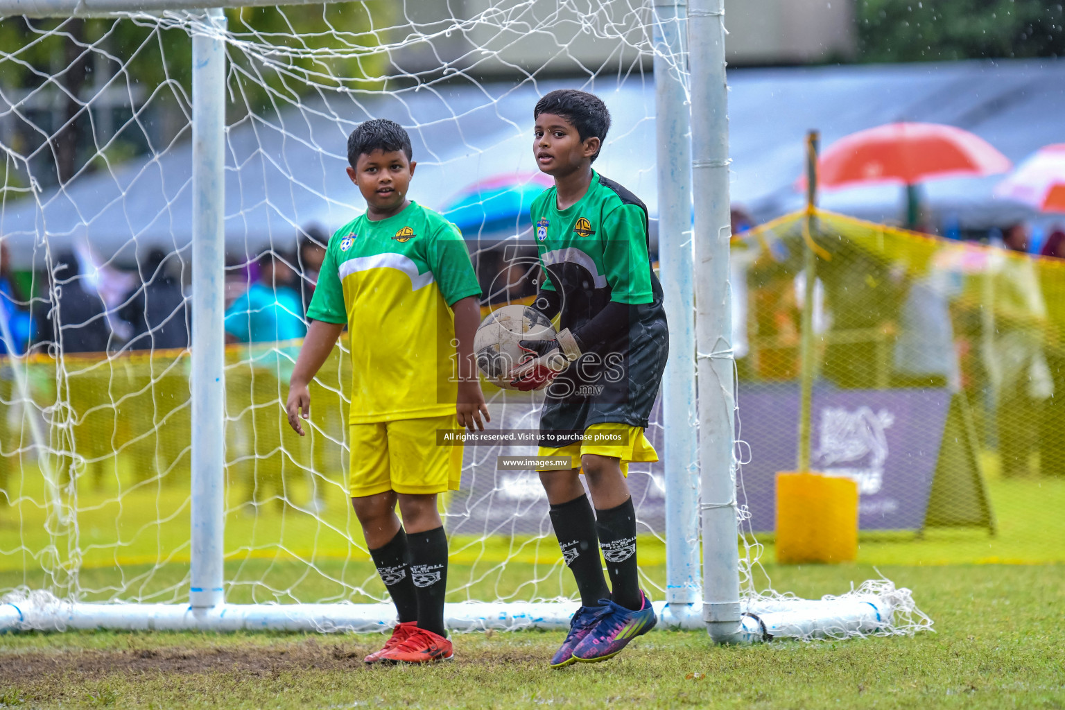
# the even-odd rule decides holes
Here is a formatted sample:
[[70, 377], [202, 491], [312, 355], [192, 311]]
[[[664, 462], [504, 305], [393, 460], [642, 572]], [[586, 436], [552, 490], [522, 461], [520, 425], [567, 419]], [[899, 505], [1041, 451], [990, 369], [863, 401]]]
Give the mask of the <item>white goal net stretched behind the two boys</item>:
[[[528, 208], [548, 183], [530, 155], [532, 106], [554, 88], [592, 90], [613, 120], [595, 167], [648, 204], [657, 258], [655, 53], [682, 85], [688, 75], [656, 44], [653, 13], [650, 0], [466, 0], [230, 9], [220, 26], [178, 10], [0, 20], [0, 594], [187, 601], [193, 35], [227, 57], [226, 601], [358, 605], [387, 599], [346, 492], [346, 339], [359, 334], [321, 370], [306, 439], [282, 409], [322, 248], [364, 209], [346, 137], [368, 118], [408, 130], [411, 197], [461, 229], [487, 313], [536, 288]], [[272, 275], [298, 317], [243, 342]], [[493, 428], [536, 429], [529, 396], [485, 391]], [[659, 452], [660, 407], [648, 432]], [[496, 469], [534, 452], [466, 447], [462, 488], [441, 503], [448, 601], [575, 598], [537, 477]], [[642, 582], [660, 600], [662, 464], [634, 465], [629, 484]], [[743, 542], [755, 598], [765, 580]], [[861, 630], [923, 624], [905, 591], [859, 596], [882, 593], [895, 626]]]

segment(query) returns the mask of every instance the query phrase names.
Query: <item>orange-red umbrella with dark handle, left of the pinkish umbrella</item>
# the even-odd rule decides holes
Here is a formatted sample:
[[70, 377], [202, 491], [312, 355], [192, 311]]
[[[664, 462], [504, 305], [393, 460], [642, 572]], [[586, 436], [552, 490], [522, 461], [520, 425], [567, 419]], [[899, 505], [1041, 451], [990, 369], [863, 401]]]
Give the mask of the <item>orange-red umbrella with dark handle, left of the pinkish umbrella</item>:
[[[941, 123], [887, 123], [836, 141], [817, 162], [822, 187], [906, 186], [907, 221], [917, 221], [918, 183], [1005, 172], [1010, 159], [978, 135]], [[800, 180], [804, 184], [805, 179]]]

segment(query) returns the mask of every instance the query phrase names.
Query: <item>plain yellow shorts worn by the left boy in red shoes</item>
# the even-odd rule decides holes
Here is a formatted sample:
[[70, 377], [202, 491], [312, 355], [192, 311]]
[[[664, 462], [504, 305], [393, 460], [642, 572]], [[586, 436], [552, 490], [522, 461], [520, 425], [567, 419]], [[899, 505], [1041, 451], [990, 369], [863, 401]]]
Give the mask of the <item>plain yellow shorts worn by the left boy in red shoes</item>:
[[454, 413], [350, 426], [348, 492], [353, 498], [386, 491], [431, 494], [459, 490], [462, 445], [437, 445], [438, 429], [459, 428]]

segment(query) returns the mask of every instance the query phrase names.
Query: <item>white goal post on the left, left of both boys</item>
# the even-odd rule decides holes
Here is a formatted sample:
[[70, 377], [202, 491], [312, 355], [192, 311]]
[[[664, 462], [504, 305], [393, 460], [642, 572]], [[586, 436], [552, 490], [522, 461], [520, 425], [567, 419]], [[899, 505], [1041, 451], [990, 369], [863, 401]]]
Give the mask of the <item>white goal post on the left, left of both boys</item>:
[[224, 600], [226, 17], [204, 20], [193, 35], [193, 608]]

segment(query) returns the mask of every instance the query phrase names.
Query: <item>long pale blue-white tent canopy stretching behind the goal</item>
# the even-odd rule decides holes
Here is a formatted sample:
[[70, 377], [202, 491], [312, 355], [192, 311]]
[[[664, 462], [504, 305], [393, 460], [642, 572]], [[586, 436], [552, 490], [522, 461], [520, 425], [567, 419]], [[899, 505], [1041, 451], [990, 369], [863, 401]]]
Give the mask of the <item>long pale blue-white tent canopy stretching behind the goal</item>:
[[[977, 133], [1014, 163], [1063, 135], [1062, 60], [741, 69], [730, 72], [730, 84], [733, 202], [758, 219], [801, 207], [803, 198], [793, 183], [808, 129], [819, 129], [828, 145], [890, 120], [944, 122]], [[594, 85], [446, 84], [393, 95], [316, 97], [230, 127], [228, 246], [246, 253], [268, 245], [291, 248], [299, 227], [316, 222], [332, 230], [359, 214], [362, 200], [344, 174], [344, 151], [348, 132], [370, 116], [411, 127], [419, 163], [411, 196], [438, 210], [461, 208], [455, 218], [473, 220], [463, 229], [472, 238], [473, 202], [463, 207], [455, 202], [456, 196], [486, 179], [515, 176], [515, 184], [526, 187], [507, 209], [526, 209], [525, 193], [539, 187], [521, 178], [536, 169], [532, 106], [540, 95], [560, 86], [581, 86], [606, 101], [613, 127], [595, 168], [640, 196], [655, 216], [655, 108], [649, 77], [600, 79]], [[35, 253], [40, 263], [46, 240], [52, 248], [86, 241], [97, 253], [120, 260], [132, 259], [135, 245], [186, 247], [193, 221], [189, 137], [186, 129], [155, 156], [0, 205], [0, 235], [16, 264], [27, 265]], [[953, 215], [971, 227], [1029, 214], [1022, 205], [996, 200], [995, 182], [930, 183], [925, 203], [936, 215]], [[489, 207], [485, 200], [474, 201]], [[902, 196], [894, 187], [867, 187], [826, 193], [821, 204], [869, 219], [898, 219]], [[485, 228], [506, 225], [504, 201], [491, 208], [491, 215], [481, 215], [491, 217]], [[521, 219], [512, 217], [519, 227]]]

